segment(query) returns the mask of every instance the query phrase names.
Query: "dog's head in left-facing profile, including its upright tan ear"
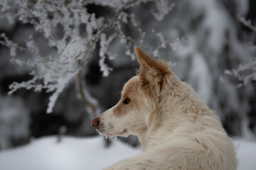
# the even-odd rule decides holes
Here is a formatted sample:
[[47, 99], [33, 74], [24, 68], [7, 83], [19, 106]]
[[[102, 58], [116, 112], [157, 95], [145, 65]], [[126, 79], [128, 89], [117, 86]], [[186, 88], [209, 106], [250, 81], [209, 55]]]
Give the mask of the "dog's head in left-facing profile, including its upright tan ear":
[[120, 101], [92, 120], [92, 125], [108, 136], [137, 135], [149, 127], [159, 96], [172, 74], [169, 63], [156, 61], [139, 47], [135, 52], [140, 63], [138, 75], [124, 85]]

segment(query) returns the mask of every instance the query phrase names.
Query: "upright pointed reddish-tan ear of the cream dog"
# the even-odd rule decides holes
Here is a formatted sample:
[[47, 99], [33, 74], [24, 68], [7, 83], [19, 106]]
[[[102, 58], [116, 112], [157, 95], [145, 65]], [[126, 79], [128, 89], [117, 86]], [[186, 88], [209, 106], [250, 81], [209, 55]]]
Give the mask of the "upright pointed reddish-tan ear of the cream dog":
[[134, 50], [140, 64], [139, 79], [141, 88], [159, 95], [159, 92], [166, 83], [166, 77], [172, 74], [169, 63], [154, 60], [139, 47], [135, 47]]

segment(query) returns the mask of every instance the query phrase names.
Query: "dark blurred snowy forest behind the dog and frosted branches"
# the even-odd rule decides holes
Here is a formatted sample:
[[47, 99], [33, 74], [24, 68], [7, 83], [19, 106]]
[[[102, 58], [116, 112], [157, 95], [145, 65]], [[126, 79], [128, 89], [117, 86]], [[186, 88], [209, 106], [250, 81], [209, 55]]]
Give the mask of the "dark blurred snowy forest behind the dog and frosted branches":
[[[3, 3], [0, 4], [0, 150], [24, 145], [33, 138], [46, 135], [98, 135], [90, 125], [92, 112], [99, 114], [114, 106], [119, 100], [118, 92], [122, 90], [124, 83], [136, 74], [139, 64], [132, 55], [136, 44], [131, 42], [127, 50], [122, 36], [117, 35], [107, 47], [107, 50], [117, 55], [105, 57], [104, 64], [107, 65], [107, 69], [102, 69], [105, 67], [100, 62], [102, 45], [100, 41], [96, 42], [90, 59], [81, 67], [79, 74], [76, 72], [75, 77], [65, 84], [52, 113], [48, 114], [46, 111], [49, 98], [54, 91], [46, 93], [47, 89], [42, 89], [35, 92], [33, 88], [24, 88], [8, 95], [9, 86], [14, 81], [28, 81], [33, 77], [33, 67], [19, 65], [16, 59], [28, 61], [36, 56], [19, 50], [14, 52], [12, 46], [6, 45], [4, 38], [8, 37], [12, 42], [26, 46], [30, 35], [33, 35], [33, 41], [41, 51], [52, 55], [56, 54], [55, 47], [48, 45], [46, 35], [37, 31], [32, 23], [23, 23], [22, 18], [16, 16], [12, 9], [4, 8], [10, 6], [10, 3], [18, 4], [20, 1], [1, 1]], [[28, 2], [36, 4], [36, 1]], [[114, 4], [114, 1], [112, 2]], [[162, 2], [164, 4], [164, 1]], [[190, 84], [220, 116], [230, 136], [255, 140], [256, 1], [169, 2], [172, 8], [162, 18], [161, 15], [160, 18], [152, 15], [152, 10], [156, 8], [154, 1], [145, 1], [125, 8], [125, 13], [132, 13], [140, 24], [139, 27], [134, 27], [133, 23], [124, 21], [122, 33], [137, 40], [137, 36], [142, 34], [137, 28], [141, 28], [146, 33], [141, 44], [151, 47], [144, 48], [146, 52], [157, 59], [171, 60], [172, 69], [177, 76]], [[68, 5], [69, 1], [63, 4]], [[103, 1], [88, 1], [80, 7], [87, 8], [90, 15], [95, 13], [95, 18], [113, 18], [117, 12], [114, 5], [104, 4]], [[10, 11], [16, 17], [12, 18]], [[51, 16], [47, 17], [49, 19]], [[75, 14], [71, 17], [75, 17]], [[90, 32], [89, 29], [86, 32], [86, 29], [80, 26], [80, 31], [82, 30], [85, 33]], [[65, 34], [63, 31], [63, 27], [57, 25], [50, 33], [61, 39]], [[164, 40], [163, 37], [172, 40], [171, 46], [164, 47], [161, 42]], [[159, 44], [161, 48], [158, 47]], [[151, 50], [156, 47], [159, 54]], [[73, 47], [70, 50], [77, 49]], [[14, 55], [16, 57], [13, 57]], [[85, 98], [80, 93], [80, 85], [83, 86]], [[129, 143], [138, 145], [136, 138], [130, 138], [128, 140], [132, 142]]]

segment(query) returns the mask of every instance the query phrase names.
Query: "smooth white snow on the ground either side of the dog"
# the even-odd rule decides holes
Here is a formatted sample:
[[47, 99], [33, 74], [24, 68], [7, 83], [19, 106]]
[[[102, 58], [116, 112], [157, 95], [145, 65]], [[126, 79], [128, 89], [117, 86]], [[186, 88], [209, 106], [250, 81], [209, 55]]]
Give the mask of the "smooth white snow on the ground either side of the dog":
[[[256, 142], [235, 140], [239, 170], [256, 167]], [[29, 145], [0, 152], [1, 170], [100, 170], [142, 152], [118, 140], [104, 147], [102, 137], [42, 137]]]

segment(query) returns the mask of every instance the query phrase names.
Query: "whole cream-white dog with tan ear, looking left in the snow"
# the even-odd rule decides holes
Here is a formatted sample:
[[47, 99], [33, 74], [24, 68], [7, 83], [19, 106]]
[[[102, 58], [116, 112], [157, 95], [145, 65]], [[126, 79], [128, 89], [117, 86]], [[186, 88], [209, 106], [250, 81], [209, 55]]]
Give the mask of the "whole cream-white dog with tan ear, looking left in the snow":
[[180, 81], [168, 62], [139, 47], [139, 73], [124, 85], [116, 106], [92, 120], [107, 136], [137, 135], [144, 152], [110, 169], [235, 170], [233, 143], [219, 118]]

